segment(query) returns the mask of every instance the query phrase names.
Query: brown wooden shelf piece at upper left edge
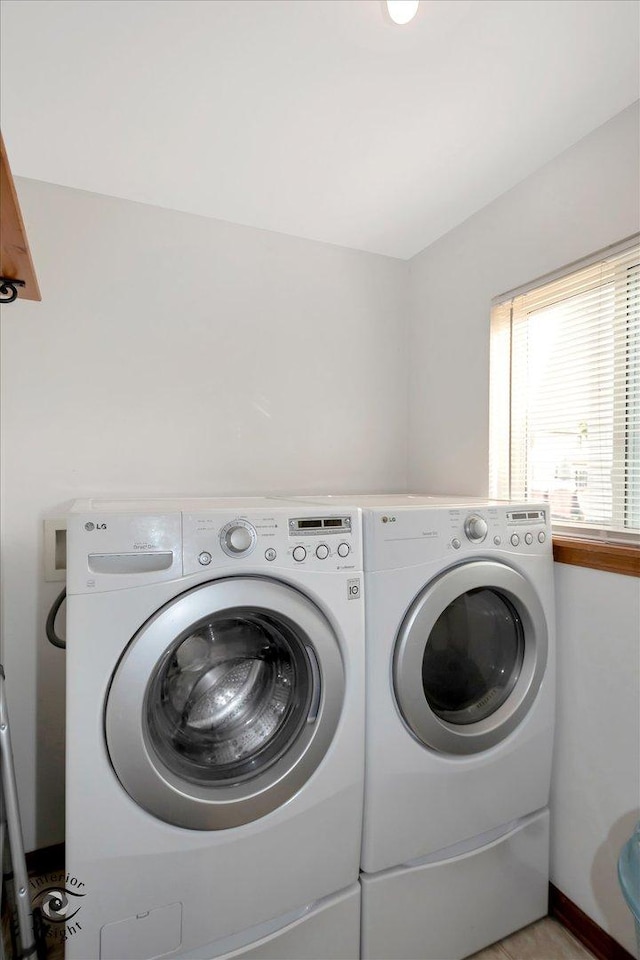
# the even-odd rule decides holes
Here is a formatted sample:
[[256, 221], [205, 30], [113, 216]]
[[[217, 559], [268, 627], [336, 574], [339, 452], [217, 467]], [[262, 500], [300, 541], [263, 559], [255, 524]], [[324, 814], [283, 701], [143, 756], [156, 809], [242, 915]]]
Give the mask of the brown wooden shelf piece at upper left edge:
[[[42, 300], [31, 259], [16, 187], [0, 135], [0, 276], [23, 280], [18, 287], [21, 300]], [[1, 302], [1, 301], [0, 301]]]

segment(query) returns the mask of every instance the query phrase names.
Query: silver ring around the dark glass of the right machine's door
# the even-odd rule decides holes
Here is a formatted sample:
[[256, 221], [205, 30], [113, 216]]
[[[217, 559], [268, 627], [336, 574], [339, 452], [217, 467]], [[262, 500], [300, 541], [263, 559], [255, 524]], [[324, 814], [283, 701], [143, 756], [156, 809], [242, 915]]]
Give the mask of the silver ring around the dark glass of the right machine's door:
[[[444, 610], [470, 590], [493, 589], [515, 607], [524, 631], [520, 675], [507, 699], [477, 723], [455, 724], [431, 709], [422, 683], [425, 638]], [[504, 740], [530, 710], [547, 665], [547, 620], [529, 581], [503, 563], [471, 560], [451, 567], [418, 594], [398, 632], [393, 657], [393, 688], [400, 713], [421, 743], [442, 753], [472, 754]]]

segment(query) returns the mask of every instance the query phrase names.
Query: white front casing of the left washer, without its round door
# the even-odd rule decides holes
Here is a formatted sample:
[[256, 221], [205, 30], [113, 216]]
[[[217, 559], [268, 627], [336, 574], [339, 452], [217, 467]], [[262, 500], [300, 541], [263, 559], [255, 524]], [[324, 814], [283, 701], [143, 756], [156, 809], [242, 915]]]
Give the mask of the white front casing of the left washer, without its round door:
[[[201, 513], [203, 506], [189, 504], [184, 514], [163, 514], [154, 505], [138, 516], [153, 525], [158, 517], [168, 516], [166, 528], [175, 537], [175, 518], [182, 529], [185, 516], [194, 509]], [[212, 503], [207, 506], [212, 516], [217, 508]], [[145, 914], [154, 921], [148, 929], [156, 920], [159, 930], [171, 927], [167, 943], [171, 941], [173, 946], [166, 956], [177, 958], [202, 945], [240, 935], [247, 928], [271, 923], [357, 881], [363, 802], [364, 599], [362, 574], [351, 563], [358, 558], [361, 567], [359, 515], [352, 511], [351, 534], [340, 537], [340, 542], [348, 541], [351, 546], [350, 569], [343, 569], [343, 558], [340, 563], [325, 558], [329, 562], [321, 566], [323, 561], [315, 553], [313, 559], [296, 561], [288, 552], [293, 541], [298, 545], [298, 539], [307, 547], [316, 542], [315, 534], [290, 537], [291, 517], [332, 517], [333, 511], [301, 510], [299, 505], [292, 510], [278, 502], [251, 517], [245, 504], [236, 502], [236, 507], [230, 513], [227, 505], [218, 510], [213, 522], [218, 542], [225, 525], [239, 514], [252, 518], [256, 529], [260, 517], [268, 515], [287, 531], [276, 558], [267, 559], [270, 545], [258, 536], [251, 556], [223, 559], [217, 555], [215, 563], [199, 565], [197, 572], [185, 575], [182, 557], [194, 556], [193, 548], [200, 546], [189, 535], [172, 548], [180, 556], [172, 578], [164, 579], [161, 571], [157, 582], [150, 580], [148, 571], [88, 570], [88, 557], [97, 551], [87, 546], [87, 537], [97, 536], [98, 530], [96, 524], [96, 529], [87, 531], [85, 524], [100, 517], [101, 523], [108, 524], [107, 531], [100, 532], [111, 536], [121, 520], [115, 507], [105, 514], [102, 506], [92, 512], [83, 504], [71, 515], [66, 866], [84, 884], [86, 895], [77, 916], [81, 930], [67, 941], [67, 960], [98, 958], [101, 928]], [[106, 521], [102, 519], [105, 516]], [[130, 516], [126, 508], [125, 516]], [[144, 522], [142, 528], [144, 532]], [[136, 537], [139, 534], [140, 529]], [[128, 533], [124, 540], [114, 536], [102, 553], [118, 556], [137, 542], [142, 552], [149, 553], [158, 545], [163, 550], [167, 546], [166, 541], [144, 536], [132, 543]], [[344, 702], [323, 759], [287, 802], [240, 826], [188, 829], [152, 815], [123, 789], [105, 742], [105, 704], [120, 659], [141, 626], [164, 607], [171, 609], [172, 602], [191, 588], [218, 579], [233, 580], [238, 574], [243, 579], [267, 578], [282, 584], [317, 607], [338, 644]], [[359, 587], [355, 593], [350, 586], [354, 580]], [[131, 709], [141, 712], [142, 704], [132, 703]], [[178, 908], [173, 904], [181, 905], [179, 945], [174, 943]], [[106, 936], [105, 956], [113, 952], [109, 942], [117, 943], [126, 931], [112, 928], [111, 933], [111, 939]], [[155, 936], [150, 934], [152, 940]], [[345, 956], [355, 957], [357, 951]]]

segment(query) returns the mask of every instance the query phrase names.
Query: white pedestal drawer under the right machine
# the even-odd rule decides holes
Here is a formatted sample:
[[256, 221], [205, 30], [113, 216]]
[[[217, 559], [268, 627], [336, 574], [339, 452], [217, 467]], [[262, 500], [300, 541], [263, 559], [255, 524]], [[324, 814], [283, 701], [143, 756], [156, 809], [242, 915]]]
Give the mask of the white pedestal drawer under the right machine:
[[447, 859], [362, 874], [363, 960], [462, 960], [547, 913], [549, 811]]

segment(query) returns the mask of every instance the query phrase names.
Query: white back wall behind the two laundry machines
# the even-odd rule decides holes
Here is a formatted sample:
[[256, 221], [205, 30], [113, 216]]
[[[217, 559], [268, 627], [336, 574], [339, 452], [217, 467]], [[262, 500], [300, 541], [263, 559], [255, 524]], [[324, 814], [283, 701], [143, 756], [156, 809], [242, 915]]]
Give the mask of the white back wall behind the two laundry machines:
[[2, 317], [3, 658], [28, 849], [63, 838], [42, 519], [78, 496], [406, 487], [408, 266], [18, 180]]

